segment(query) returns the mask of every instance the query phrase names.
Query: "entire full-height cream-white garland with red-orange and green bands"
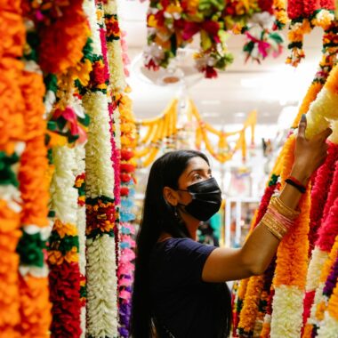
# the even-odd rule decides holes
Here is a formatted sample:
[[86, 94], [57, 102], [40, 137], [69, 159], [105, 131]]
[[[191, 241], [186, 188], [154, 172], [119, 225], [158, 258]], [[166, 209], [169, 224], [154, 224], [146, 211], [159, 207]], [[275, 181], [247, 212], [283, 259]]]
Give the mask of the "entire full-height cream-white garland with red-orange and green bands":
[[[107, 67], [101, 39], [104, 20], [103, 4], [84, 1], [93, 39], [93, 71], [88, 91], [84, 93], [84, 109], [91, 118], [85, 145], [86, 166], [86, 272], [87, 335], [117, 336], [117, 275], [114, 238], [114, 170], [111, 162], [109, 100], [106, 95]], [[97, 15], [96, 16], [96, 12]], [[100, 22], [96, 20], [98, 18]], [[102, 44], [103, 43], [103, 44]], [[106, 56], [105, 56], [106, 57]]]

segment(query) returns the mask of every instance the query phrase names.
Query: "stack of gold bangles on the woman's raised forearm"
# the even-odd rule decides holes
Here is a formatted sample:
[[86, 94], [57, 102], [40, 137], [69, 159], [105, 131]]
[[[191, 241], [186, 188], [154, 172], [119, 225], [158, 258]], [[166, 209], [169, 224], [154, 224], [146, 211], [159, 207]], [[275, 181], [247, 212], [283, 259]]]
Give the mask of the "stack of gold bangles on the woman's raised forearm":
[[281, 240], [294, 225], [299, 214], [300, 212], [286, 206], [279, 197], [273, 197], [262, 218], [262, 224], [269, 229], [273, 236]]

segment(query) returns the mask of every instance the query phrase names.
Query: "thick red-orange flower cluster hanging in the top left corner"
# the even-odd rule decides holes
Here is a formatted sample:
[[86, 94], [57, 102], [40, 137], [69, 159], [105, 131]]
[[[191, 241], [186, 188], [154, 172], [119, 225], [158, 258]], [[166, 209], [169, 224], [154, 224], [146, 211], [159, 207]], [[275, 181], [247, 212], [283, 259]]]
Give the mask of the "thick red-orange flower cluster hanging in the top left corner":
[[[53, 2], [25, 0], [23, 8], [36, 23], [40, 43], [38, 63], [46, 73], [61, 74], [75, 67], [83, 57], [88, 25], [83, 0]], [[58, 44], [55, 44], [58, 41]]]

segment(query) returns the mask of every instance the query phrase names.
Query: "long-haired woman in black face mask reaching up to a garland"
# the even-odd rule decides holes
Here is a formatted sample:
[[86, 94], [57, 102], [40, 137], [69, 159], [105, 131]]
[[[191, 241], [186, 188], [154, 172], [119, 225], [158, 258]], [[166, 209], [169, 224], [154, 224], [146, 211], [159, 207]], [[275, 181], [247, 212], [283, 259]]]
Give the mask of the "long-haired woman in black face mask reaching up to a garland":
[[231, 305], [225, 282], [261, 275], [294, 224], [304, 186], [326, 158], [327, 129], [311, 141], [302, 117], [294, 167], [283, 191], [240, 249], [197, 243], [200, 221], [221, 205], [208, 159], [181, 150], [157, 159], [149, 173], [133, 288], [133, 338], [229, 336]]

